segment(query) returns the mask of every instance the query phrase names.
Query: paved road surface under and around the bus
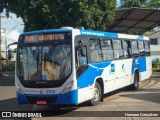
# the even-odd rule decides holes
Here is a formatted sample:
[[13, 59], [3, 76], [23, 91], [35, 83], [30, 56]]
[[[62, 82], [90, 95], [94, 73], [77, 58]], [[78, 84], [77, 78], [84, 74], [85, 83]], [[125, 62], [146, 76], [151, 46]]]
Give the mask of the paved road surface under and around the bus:
[[[37, 105], [18, 105], [16, 102], [16, 94], [14, 87], [14, 74], [5, 73], [0, 77], [0, 111], [52, 111], [53, 114], [46, 113], [47, 117], [34, 118], [36, 120], [52, 120], [54, 119], [74, 119], [74, 117], [55, 117], [64, 116], [68, 114], [72, 116], [75, 111], [160, 111], [160, 73], [154, 73], [148, 80], [140, 82], [140, 89], [138, 91], [129, 91], [126, 89], [118, 90], [116, 92], [107, 94], [104, 102], [97, 106], [89, 106], [88, 104], [81, 104], [78, 106], [37, 106]], [[55, 110], [67, 110], [64, 114], [55, 115]], [[89, 114], [86, 112], [86, 114]], [[96, 114], [96, 112], [92, 112]], [[116, 112], [113, 112], [116, 114]], [[160, 114], [159, 114], [160, 115]], [[78, 117], [77, 119], [106, 119], [103, 117]], [[108, 117], [107, 117], [108, 118]], [[108, 118], [115, 119], [115, 118]], [[123, 117], [118, 119], [124, 120], [150, 120], [147, 117]], [[152, 118], [158, 120], [159, 118]]]

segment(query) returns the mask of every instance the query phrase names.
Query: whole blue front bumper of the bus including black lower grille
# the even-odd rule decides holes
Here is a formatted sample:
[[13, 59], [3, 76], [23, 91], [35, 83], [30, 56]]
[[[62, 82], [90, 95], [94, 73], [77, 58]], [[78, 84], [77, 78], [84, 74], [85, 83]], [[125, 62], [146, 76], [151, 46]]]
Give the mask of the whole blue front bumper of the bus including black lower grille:
[[78, 91], [73, 90], [64, 94], [21, 94], [17, 92], [19, 104], [37, 104], [37, 101], [46, 101], [46, 104], [78, 104]]

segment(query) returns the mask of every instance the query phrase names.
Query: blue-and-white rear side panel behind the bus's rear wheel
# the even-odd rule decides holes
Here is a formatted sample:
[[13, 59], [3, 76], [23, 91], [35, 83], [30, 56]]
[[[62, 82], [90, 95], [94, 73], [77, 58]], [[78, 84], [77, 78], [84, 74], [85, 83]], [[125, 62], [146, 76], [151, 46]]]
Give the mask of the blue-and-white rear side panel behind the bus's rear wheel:
[[138, 59], [139, 62], [139, 80], [143, 81], [148, 79], [152, 74], [152, 64], [150, 57], [141, 57]]

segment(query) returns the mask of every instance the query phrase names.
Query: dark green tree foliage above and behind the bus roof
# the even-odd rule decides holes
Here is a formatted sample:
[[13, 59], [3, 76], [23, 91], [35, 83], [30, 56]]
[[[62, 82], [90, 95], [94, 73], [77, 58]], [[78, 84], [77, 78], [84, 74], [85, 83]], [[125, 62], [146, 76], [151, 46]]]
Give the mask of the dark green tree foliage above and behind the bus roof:
[[25, 31], [83, 26], [105, 30], [114, 18], [116, 0], [1, 0], [0, 12], [15, 13]]

